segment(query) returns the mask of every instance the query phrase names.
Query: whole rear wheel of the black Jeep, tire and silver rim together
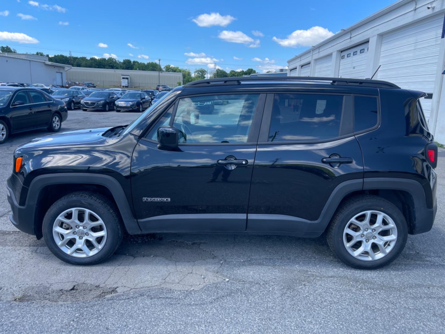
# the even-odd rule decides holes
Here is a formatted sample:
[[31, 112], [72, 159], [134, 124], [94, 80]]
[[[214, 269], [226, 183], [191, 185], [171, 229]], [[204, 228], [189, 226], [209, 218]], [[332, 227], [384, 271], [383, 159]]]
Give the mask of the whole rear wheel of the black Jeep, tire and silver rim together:
[[379, 196], [364, 195], [344, 203], [328, 228], [328, 244], [353, 268], [377, 269], [405, 248], [408, 226], [400, 210]]

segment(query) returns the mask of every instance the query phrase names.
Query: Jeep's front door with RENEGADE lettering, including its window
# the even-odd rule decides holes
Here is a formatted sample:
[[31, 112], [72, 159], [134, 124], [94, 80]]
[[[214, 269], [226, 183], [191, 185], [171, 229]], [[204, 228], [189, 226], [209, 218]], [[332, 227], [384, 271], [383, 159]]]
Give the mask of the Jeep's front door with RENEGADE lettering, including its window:
[[[245, 231], [265, 94], [180, 98], [133, 154], [133, 203], [143, 231]], [[159, 126], [182, 131], [162, 151]]]

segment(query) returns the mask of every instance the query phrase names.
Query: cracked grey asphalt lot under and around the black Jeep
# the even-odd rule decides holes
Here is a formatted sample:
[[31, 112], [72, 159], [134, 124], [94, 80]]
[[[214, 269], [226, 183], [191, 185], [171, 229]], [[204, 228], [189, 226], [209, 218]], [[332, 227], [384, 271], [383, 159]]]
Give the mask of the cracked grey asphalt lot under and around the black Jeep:
[[[116, 126], [138, 114], [69, 112], [62, 130]], [[0, 146], [0, 186], [12, 152]], [[444, 175], [431, 232], [409, 236], [386, 268], [349, 268], [323, 237], [126, 236], [109, 261], [61, 262], [9, 222], [0, 196], [0, 333], [443, 333]]]

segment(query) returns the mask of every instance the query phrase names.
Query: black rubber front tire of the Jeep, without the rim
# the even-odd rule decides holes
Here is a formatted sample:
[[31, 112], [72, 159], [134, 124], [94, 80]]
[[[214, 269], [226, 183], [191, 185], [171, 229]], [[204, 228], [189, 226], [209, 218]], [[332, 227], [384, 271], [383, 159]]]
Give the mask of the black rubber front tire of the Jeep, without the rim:
[[[100, 216], [105, 224], [107, 230], [107, 240], [105, 241], [104, 247], [95, 255], [86, 258], [72, 257], [65, 254], [56, 244], [53, 238], [53, 224], [57, 217], [70, 208], [85, 208], [95, 212]], [[43, 237], [48, 246], [49, 250], [62, 261], [76, 264], [76, 265], [93, 265], [98, 262], [106, 260], [110, 257], [114, 250], [119, 244], [119, 221], [116, 220], [107, 208], [101, 207], [99, 204], [95, 203], [93, 200], [86, 198], [72, 198], [68, 200], [62, 200], [53, 204], [49, 208], [48, 212], [43, 219]]]

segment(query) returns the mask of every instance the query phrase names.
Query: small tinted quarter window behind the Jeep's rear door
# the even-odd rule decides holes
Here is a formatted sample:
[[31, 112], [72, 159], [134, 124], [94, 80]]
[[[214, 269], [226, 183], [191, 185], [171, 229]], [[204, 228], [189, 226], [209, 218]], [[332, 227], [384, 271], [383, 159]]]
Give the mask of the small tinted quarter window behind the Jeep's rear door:
[[378, 122], [377, 98], [354, 96], [354, 132], [371, 129]]

